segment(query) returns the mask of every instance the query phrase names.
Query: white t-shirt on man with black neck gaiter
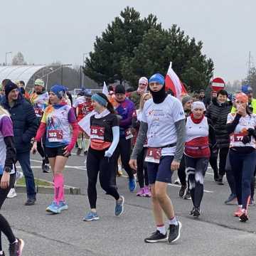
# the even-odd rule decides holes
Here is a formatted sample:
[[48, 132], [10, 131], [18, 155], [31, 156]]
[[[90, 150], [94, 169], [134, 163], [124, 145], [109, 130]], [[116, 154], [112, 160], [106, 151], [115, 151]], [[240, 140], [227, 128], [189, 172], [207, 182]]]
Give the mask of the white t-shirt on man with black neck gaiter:
[[[175, 123], [185, 119], [181, 102], [168, 95], [164, 102], [155, 104], [153, 99], [145, 102], [142, 112], [142, 122], [148, 124], [146, 134], [149, 147], [161, 147], [177, 142]], [[161, 151], [162, 156], [173, 156], [176, 146], [165, 147]]]

